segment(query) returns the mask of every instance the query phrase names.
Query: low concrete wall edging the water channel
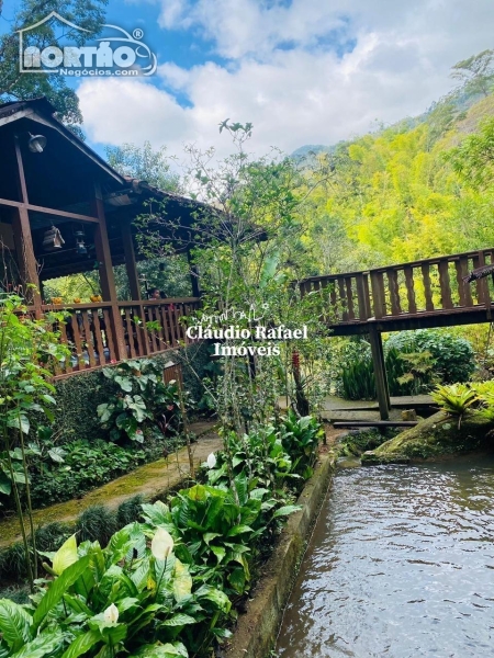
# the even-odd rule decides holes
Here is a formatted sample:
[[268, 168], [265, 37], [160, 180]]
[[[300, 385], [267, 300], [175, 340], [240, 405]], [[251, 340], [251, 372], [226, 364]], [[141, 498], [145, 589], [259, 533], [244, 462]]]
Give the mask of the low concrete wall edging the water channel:
[[238, 619], [227, 658], [268, 658], [273, 648], [284, 608], [336, 467], [333, 452], [323, 454], [292, 514], [280, 543], [266, 564], [246, 614]]

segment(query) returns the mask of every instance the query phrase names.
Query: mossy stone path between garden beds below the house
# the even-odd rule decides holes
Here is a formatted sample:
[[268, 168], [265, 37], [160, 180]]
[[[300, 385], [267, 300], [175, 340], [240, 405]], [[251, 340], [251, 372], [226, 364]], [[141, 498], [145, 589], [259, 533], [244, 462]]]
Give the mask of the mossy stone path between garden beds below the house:
[[[223, 447], [222, 440], [214, 431], [213, 422], [193, 423], [190, 430], [198, 436], [198, 442], [192, 444], [194, 465], [205, 462], [210, 453]], [[167, 458], [139, 466], [132, 473], [93, 489], [78, 500], [68, 500], [36, 510], [34, 524], [37, 527], [53, 521], [74, 521], [80, 512], [97, 503], [115, 509], [121, 502], [138, 494], [153, 499], [179, 485], [189, 473], [189, 455], [187, 447], [182, 447]], [[15, 518], [0, 522], [0, 547], [8, 546], [20, 538], [19, 522]]]

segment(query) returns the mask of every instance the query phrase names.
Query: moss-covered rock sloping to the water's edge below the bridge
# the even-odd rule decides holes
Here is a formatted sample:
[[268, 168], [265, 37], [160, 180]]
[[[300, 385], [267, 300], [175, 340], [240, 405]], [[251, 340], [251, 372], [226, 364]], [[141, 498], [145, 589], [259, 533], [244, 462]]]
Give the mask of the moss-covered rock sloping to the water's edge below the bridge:
[[492, 447], [492, 421], [471, 412], [458, 426], [458, 418], [439, 411], [377, 450], [364, 453], [362, 464], [435, 460]]

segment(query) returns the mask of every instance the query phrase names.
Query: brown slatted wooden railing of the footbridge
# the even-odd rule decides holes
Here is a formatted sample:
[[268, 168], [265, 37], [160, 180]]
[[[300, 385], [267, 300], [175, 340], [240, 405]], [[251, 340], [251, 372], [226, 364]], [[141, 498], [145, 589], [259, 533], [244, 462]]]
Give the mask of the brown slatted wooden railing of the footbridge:
[[333, 322], [364, 322], [491, 306], [491, 277], [467, 283], [463, 277], [494, 264], [494, 249], [482, 249], [369, 271], [312, 276], [300, 283], [302, 294], [329, 288]]

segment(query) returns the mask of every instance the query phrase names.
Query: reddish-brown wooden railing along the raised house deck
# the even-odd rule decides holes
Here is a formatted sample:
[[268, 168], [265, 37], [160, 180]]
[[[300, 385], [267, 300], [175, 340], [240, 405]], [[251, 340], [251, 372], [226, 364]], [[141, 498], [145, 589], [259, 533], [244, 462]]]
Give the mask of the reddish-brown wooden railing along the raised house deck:
[[[45, 305], [43, 311], [65, 310], [65, 321], [58, 322], [61, 341], [70, 349], [70, 356], [57, 363], [55, 375], [88, 371], [116, 363], [122, 359], [139, 359], [159, 354], [191, 342], [186, 334], [186, 320], [199, 308], [198, 297], [175, 297], [159, 300], [119, 302], [116, 309], [110, 302]], [[119, 353], [120, 331], [121, 347]]]

